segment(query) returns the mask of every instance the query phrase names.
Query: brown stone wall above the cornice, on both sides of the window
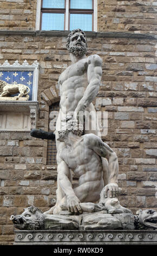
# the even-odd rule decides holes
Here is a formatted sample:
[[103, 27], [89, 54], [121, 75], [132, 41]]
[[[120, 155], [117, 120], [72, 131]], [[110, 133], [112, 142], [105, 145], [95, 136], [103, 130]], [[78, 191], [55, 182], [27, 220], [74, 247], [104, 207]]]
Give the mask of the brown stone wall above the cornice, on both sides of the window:
[[[35, 31], [36, 3], [37, 0], [1, 0], [0, 30]], [[156, 0], [97, 0], [97, 4], [97, 32], [156, 34]]]

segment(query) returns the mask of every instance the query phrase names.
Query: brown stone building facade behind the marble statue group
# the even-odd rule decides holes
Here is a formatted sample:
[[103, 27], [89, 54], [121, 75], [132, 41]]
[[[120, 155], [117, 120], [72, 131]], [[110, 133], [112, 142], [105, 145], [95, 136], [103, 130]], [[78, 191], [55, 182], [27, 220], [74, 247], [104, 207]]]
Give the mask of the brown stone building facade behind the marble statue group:
[[[31, 137], [30, 129], [55, 126], [57, 80], [71, 63], [66, 36], [78, 24], [87, 29], [87, 55], [99, 54], [103, 62], [94, 105], [108, 114], [102, 139], [119, 159], [121, 205], [134, 214], [140, 208], [157, 209], [157, 2], [77, 0], [77, 6], [66, 0], [57, 1], [57, 7], [55, 2], [0, 1], [0, 69], [6, 60], [11, 66], [25, 60], [39, 64], [35, 100], [27, 106], [0, 101], [1, 245], [14, 242], [10, 215], [30, 205], [45, 211], [55, 204], [55, 142]], [[21, 113], [27, 113], [27, 128], [19, 126]], [[4, 116], [11, 120], [8, 126]]]

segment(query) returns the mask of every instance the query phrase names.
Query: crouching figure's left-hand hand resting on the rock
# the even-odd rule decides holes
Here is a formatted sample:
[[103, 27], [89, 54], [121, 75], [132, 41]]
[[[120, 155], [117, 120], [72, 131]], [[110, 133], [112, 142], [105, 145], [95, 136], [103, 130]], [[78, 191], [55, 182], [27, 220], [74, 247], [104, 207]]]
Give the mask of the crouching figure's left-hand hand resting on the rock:
[[74, 195], [67, 196], [67, 206], [68, 206], [69, 212], [75, 212], [75, 213], [80, 212], [80, 214], [82, 214], [82, 210], [79, 203], [80, 203], [80, 200], [76, 196]]

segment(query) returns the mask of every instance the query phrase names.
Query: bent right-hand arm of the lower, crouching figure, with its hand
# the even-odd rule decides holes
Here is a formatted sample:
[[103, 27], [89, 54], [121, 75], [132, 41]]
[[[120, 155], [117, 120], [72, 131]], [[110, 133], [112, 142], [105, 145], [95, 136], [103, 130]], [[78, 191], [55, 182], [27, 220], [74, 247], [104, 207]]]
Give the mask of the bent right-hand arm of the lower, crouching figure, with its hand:
[[117, 176], [119, 174], [119, 163], [116, 153], [104, 143], [98, 136], [94, 134], [89, 134], [85, 136], [85, 143], [88, 145], [88, 148], [95, 151], [95, 153], [101, 157], [104, 157], [108, 160], [108, 171], [109, 179], [106, 190], [104, 191], [105, 196], [107, 197], [107, 192], [110, 192], [110, 197], [118, 196], [120, 189], [118, 187]]

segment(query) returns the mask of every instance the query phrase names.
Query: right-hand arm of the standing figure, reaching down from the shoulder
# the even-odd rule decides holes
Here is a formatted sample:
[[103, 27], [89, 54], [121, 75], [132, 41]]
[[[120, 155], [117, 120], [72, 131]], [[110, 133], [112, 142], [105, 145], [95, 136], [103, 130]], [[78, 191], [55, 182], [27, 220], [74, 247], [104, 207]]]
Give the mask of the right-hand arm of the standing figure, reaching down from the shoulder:
[[76, 118], [79, 111], [84, 111], [86, 107], [95, 99], [99, 92], [100, 82], [102, 77], [102, 60], [97, 55], [91, 55], [87, 58], [87, 77], [88, 86], [82, 99], [78, 102], [78, 105], [74, 112], [74, 117]]

